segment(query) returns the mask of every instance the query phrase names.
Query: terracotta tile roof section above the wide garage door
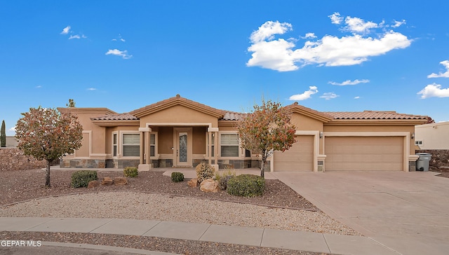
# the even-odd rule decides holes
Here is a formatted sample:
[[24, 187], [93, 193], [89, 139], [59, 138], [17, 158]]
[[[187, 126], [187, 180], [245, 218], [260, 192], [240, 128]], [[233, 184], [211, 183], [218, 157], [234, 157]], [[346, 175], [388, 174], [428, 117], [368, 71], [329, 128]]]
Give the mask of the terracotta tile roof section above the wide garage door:
[[396, 111], [323, 112], [335, 120], [427, 120], [427, 116], [396, 113]]

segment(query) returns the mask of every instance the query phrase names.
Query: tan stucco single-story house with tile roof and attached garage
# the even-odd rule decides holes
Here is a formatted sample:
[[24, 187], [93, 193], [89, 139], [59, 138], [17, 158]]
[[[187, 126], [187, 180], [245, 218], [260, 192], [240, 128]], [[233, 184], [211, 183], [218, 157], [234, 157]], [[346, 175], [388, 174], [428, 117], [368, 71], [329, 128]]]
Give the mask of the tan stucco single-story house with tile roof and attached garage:
[[[415, 125], [427, 116], [394, 111], [319, 112], [296, 102], [288, 107], [297, 142], [276, 151], [269, 171], [415, 170]], [[60, 108], [79, 117], [83, 145], [61, 167], [194, 167], [201, 162], [236, 169], [259, 167], [257, 155], [239, 146], [229, 112], [176, 95], [115, 113], [105, 108]]]

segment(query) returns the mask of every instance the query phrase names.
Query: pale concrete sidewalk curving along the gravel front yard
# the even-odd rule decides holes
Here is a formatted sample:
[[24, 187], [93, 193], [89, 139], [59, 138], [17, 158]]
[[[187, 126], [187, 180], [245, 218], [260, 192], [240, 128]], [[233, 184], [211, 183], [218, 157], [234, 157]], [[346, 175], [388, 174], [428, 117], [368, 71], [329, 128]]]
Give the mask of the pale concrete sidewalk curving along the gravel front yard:
[[[272, 247], [298, 251], [315, 251], [330, 254], [398, 254], [369, 237], [332, 235], [323, 233], [222, 226], [205, 223], [153, 221], [134, 219], [72, 219], [72, 218], [0, 218], [0, 231], [36, 231], [67, 233], [103, 233], [175, 238], [205, 242], [243, 244], [255, 247]], [[34, 240], [39, 241], [39, 240]], [[66, 245], [44, 242], [42, 247]], [[67, 244], [79, 247], [79, 244]], [[83, 248], [93, 249], [85, 244]], [[40, 247], [28, 247], [36, 249]], [[109, 251], [140, 253], [140, 250], [98, 247]], [[0, 251], [3, 249], [0, 247]], [[120, 249], [120, 251], [118, 250]], [[152, 251], [154, 252], [154, 251]], [[163, 254], [142, 251], [142, 254]]]

